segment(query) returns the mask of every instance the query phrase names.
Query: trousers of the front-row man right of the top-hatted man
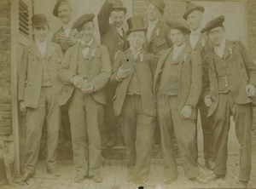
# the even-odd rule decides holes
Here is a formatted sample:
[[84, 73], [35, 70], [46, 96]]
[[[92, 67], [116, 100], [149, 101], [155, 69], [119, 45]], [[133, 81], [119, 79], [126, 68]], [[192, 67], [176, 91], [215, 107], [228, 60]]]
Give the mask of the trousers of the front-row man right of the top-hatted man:
[[195, 159], [195, 120], [180, 117], [177, 96], [158, 95], [157, 105], [166, 178], [177, 178], [177, 164], [172, 144], [173, 134], [176, 136], [185, 176], [197, 177], [200, 173]]

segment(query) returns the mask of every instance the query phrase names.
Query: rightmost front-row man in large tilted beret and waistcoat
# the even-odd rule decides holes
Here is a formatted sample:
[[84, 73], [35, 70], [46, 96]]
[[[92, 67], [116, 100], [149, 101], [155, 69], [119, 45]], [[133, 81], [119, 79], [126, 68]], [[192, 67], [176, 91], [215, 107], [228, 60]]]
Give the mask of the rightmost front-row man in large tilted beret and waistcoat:
[[236, 137], [240, 143], [240, 172], [237, 188], [247, 187], [251, 173], [252, 107], [256, 103], [256, 66], [240, 41], [225, 39], [224, 16], [207, 23], [201, 32], [213, 43], [212, 51], [205, 57], [205, 102], [210, 106], [208, 117], [212, 120], [215, 160], [214, 174], [208, 180], [216, 180], [227, 173], [227, 143], [230, 116], [236, 122]]

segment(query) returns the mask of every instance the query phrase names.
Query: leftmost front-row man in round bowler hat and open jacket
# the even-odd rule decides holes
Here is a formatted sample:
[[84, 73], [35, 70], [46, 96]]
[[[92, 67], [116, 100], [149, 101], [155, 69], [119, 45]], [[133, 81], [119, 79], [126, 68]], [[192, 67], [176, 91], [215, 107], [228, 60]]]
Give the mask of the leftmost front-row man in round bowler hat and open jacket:
[[51, 43], [48, 20], [44, 14], [32, 16], [35, 41], [22, 53], [18, 100], [20, 111], [26, 112], [26, 152], [23, 175], [17, 182], [35, 174], [44, 118], [47, 123], [47, 172], [59, 176], [55, 166], [60, 129], [62, 84], [57, 77], [61, 66], [61, 47]]

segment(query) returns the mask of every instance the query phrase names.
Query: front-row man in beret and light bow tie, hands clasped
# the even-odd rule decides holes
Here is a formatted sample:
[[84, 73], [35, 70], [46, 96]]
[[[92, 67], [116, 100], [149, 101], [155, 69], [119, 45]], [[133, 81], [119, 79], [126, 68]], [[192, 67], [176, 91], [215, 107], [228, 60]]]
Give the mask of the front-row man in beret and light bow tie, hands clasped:
[[73, 25], [80, 42], [67, 49], [59, 77], [69, 87], [68, 115], [71, 124], [76, 182], [92, 177], [101, 182], [102, 143], [100, 128], [107, 103], [105, 85], [111, 75], [108, 49], [93, 38], [94, 14], [82, 15]]

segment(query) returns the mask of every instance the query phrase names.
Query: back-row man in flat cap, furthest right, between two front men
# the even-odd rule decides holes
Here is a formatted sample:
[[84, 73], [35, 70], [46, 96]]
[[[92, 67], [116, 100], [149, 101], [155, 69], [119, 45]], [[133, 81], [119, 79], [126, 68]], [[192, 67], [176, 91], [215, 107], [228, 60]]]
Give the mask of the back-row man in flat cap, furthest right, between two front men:
[[[203, 13], [205, 8], [189, 3], [186, 12], [183, 14], [183, 19], [187, 20], [187, 24], [190, 29], [190, 35], [188, 38], [188, 45], [193, 50], [198, 50], [203, 58], [207, 52], [212, 48], [212, 43], [208, 40], [206, 33], [201, 33], [201, 22], [203, 19]], [[201, 128], [203, 131], [203, 151], [207, 169], [214, 169], [213, 163], [213, 130], [212, 122], [207, 118], [208, 107], [205, 105], [203, 97], [198, 101], [197, 107], [201, 114]], [[196, 122], [197, 123], [197, 122]], [[197, 132], [197, 131], [196, 131]], [[197, 154], [196, 154], [197, 156]]]

